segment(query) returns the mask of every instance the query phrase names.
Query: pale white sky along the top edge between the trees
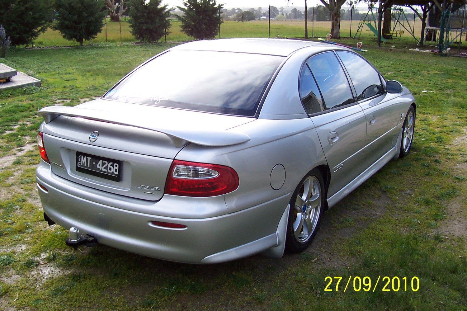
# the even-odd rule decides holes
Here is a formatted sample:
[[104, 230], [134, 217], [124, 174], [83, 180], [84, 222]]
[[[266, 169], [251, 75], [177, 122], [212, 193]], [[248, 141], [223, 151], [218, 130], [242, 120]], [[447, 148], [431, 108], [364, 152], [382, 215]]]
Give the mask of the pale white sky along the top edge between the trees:
[[[163, 4], [168, 4], [169, 7], [183, 7], [183, 0], [162, 0], [161, 1]], [[216, 3], [224, 3], [224, 7], [226, 8], [232, 8], [232, 7], [262, 7], [263, 10], [268, 7], [268, 6], [274, 6], [274, 7], [287, 7], [287, 4], [290, 7], [296, 6], [296, 7], [304, 7], [305, 6], [305, 1], [304, 0], [291, 0], [290, 2], [287, 0], [216, 0]], [[317, 6], [319, 3], [319, 0], [307, 0], [307, 6], [312, 7], [312, 6]]]

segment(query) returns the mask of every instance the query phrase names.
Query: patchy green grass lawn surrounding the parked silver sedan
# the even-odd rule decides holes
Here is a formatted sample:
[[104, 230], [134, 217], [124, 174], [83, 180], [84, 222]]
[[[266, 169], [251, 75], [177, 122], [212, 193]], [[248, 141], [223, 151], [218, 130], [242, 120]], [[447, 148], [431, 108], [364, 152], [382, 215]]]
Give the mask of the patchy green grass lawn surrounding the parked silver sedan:
[[302, 254], [200, 266], [67, 247], [35, 191], [36, 112], [99, 97], [171, 45], [12, 49], [1, 59], [42, 87], [0, 92], [0, 310], [467, 309], [467, 64], [456, 57], [368, 48], [417, 99], [413, 147], [327, 212]]

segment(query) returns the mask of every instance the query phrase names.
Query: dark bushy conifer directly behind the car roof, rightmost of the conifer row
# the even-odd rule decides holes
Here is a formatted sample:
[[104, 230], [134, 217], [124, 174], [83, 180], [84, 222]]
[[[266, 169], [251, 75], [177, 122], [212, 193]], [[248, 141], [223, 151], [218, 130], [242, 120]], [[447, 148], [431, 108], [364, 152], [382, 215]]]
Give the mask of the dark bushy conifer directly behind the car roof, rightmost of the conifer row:
[[219, 16], [222, 4], [217, 5], [216, 0], [186, 0], [183, 5], [185, 7], [178, 9], [184, 16], [177, 16], [183, 33], [195, 40], [212, 39], [217, 35], [222, 22]]

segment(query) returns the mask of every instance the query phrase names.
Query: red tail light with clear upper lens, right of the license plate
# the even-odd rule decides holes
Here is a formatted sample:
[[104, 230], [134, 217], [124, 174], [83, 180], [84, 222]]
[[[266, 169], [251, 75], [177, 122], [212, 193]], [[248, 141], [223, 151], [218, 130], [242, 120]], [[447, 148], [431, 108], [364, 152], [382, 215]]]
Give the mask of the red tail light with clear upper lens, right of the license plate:
[[174, 160], [165, 193], [186, 197], [213, 197], [238, 188], [238, 175], [224, 165]]

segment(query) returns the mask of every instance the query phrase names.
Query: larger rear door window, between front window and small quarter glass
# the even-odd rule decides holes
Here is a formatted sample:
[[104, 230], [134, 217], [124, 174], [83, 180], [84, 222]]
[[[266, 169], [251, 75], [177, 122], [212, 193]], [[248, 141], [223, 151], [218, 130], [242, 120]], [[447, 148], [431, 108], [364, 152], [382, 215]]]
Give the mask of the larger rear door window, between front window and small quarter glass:
[[316, 78], [326, 109], [332, 109], [354, 102], [346, 74], [333, 52], [321, 53], [307, 62]]

